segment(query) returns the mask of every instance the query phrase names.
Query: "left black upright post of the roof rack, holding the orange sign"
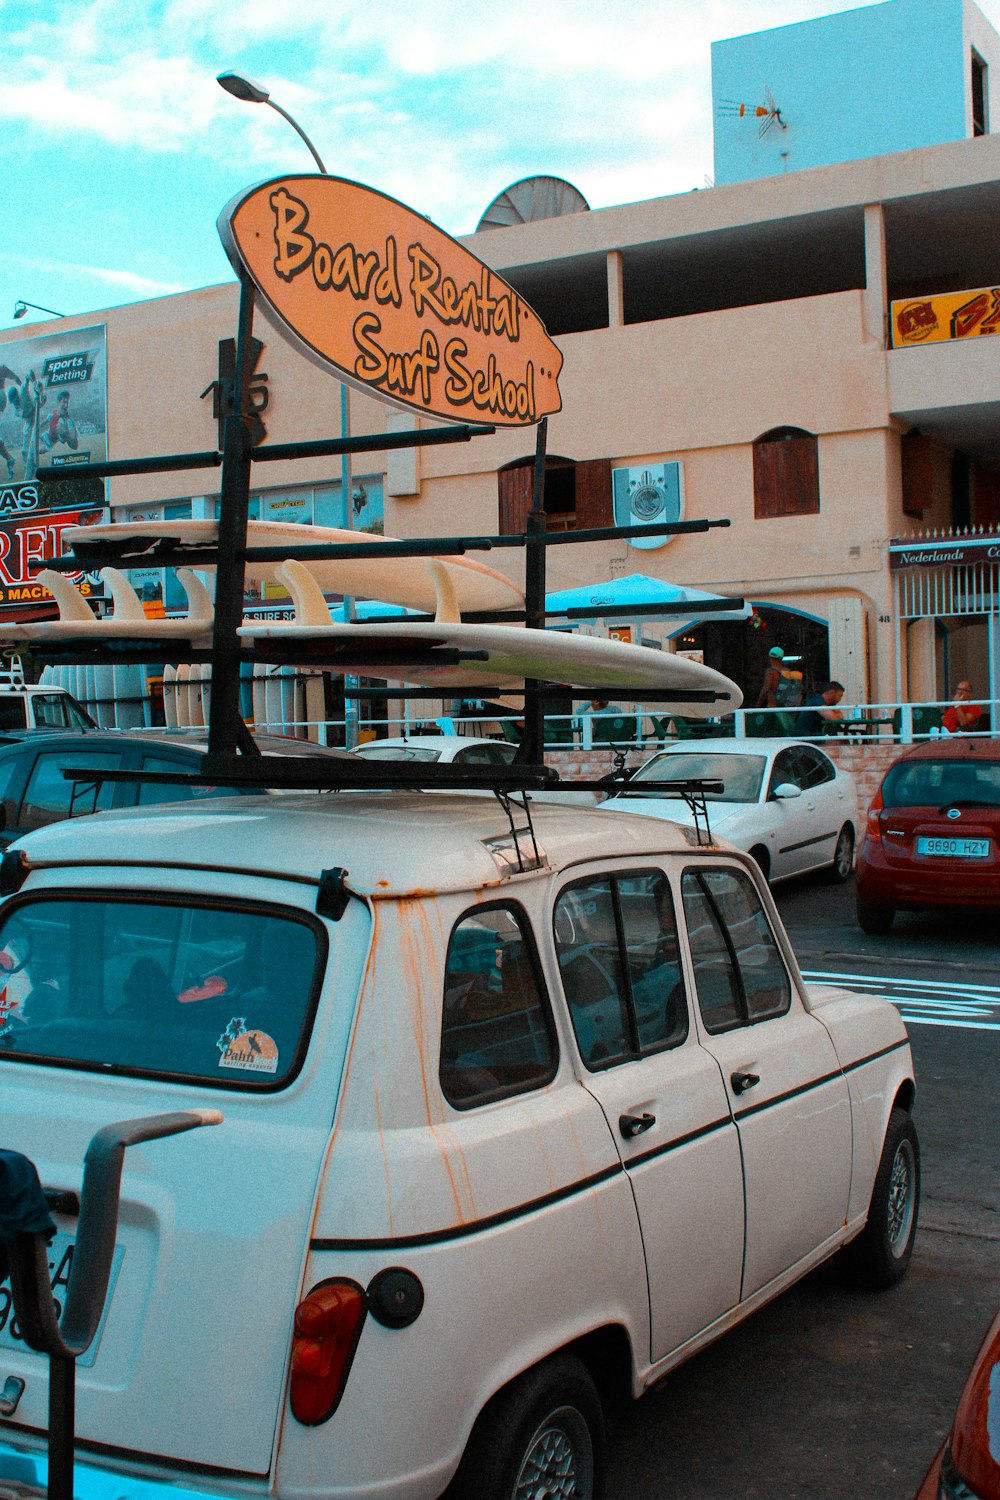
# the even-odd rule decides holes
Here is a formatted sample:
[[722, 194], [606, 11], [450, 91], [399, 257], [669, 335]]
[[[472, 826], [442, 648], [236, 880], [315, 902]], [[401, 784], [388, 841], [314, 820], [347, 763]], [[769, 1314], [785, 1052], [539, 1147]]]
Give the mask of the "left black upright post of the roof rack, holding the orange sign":
[[253, 332], [253, 282], [240, 276], [240, 321], [235, 345], [232, 404], [225, 420], [222, 484], [219, 492], [219, 566], [216, 568], [216, 624], [211, 638], [211, 708], [208, 714], [208, 760], [235, 754], [241, 740], [240, 636], [243, 622], [243, 574], [246, 570], [246, 522], [250, 504], [250, 434], [244, 422], [249, 384], [250, 336]]

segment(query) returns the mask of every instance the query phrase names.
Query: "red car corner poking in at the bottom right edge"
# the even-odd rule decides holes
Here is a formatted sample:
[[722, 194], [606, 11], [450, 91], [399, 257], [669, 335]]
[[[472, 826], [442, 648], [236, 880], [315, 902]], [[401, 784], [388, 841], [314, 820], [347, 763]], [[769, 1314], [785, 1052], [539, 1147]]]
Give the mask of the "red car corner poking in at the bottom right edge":
[[952, 1430], [915, 1500], [1000, 1500], [1000, 1317], [976, 1354]]

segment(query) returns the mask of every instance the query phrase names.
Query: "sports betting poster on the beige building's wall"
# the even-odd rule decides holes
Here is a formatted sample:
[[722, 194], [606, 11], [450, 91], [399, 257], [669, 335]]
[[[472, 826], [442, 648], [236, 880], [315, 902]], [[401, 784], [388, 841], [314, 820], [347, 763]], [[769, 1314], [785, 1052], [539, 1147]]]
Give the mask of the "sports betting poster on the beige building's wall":
[[0, 344], [0, 486], [106, 458], [105, 326]]

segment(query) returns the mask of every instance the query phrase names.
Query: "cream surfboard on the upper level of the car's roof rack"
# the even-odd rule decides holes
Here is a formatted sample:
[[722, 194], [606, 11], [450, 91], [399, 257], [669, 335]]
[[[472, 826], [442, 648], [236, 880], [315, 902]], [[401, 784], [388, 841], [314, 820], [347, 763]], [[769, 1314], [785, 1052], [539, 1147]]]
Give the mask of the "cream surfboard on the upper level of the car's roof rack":
[[[214, 546], [219, 540], [217, 520], [120, 520], [102, 526], [66, 526], [63, 546], [81, 560], [106, 555], [114, 550], [118, 567], [148, 566], [148, 554], [159, 542], [189, 550]], [[372, 542], [387, 543], [391, 537], [378, 537], [366, 531], [346, 531], [340, 526], [306, 526], [282, 520], [247, 522], [249, 548], [301, 548], [318, 544], [355, 544]], [[387, 604], [403, 604], [409, 609], [432, 612], [436, 604], [436, 588], [429, 576], [427, 562], [439, 561], [451, 579], [460, 610], [471, 609], [523, 609], [525, 596], [508, 578], [474, 558], [327, 558], [310, 561], [309, 570], [328, 594], [348, 594], [363, 598], [378, 598]], [[247, 584], [271, 584], [280, 562], [247, 562]], [[210, 572], [198, 562], [199, 572]], [[27, 638], [22, 638], [27, 639]]]

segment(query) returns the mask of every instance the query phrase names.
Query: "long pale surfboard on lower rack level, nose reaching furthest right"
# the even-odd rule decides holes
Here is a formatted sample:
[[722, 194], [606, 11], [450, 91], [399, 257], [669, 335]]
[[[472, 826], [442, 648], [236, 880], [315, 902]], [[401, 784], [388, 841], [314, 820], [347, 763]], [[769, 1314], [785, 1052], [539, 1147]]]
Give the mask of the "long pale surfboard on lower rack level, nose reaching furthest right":
[[[604, 687], [609, 694], [648, 692], [712, 692], [714, 702], [672, 704], [672, 711], [693, 718], [727, 714], [742, 704], [739, 687], [721, 672], [669, 651], [597, 636], [528, 630], [519, 626], [456, 622], [400, 622], [385, 626], [315, 626], [258, 621], [240, 628], [241, 639], [258, 650], [279, 648], [280, 660], [298, 666], [327, 664], [330, 670], [363, 672], [390, 682], [453, 688], [490, 684], [511, 688], [525, 678], [565, 682], [570, 687]], [[415, 651], [429, 652], [414, 664]], [[435, 651], [459, 651], [472, 660], [435, 663]], [[333, 662], [324, 660], [336, 652]], [[396, 656], [393, 656], [396, 652]], [[483, 652], [481, 658], [475, 658]], [[373, 664], [373, 656], [376, 663]]]

